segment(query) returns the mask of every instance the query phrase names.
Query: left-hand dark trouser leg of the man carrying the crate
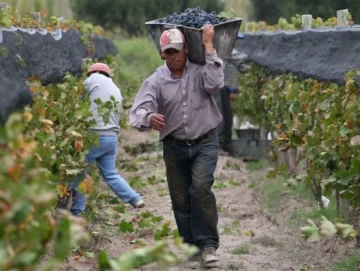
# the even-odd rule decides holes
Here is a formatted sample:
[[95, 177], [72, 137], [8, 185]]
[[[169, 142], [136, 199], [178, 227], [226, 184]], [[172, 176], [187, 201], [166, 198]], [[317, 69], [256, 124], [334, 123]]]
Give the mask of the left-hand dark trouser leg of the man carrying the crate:
[[191, 230], [191, 163], [189, 147], [164, 142], [163, 157], [176, 225], [185, 243], [195, 244]]

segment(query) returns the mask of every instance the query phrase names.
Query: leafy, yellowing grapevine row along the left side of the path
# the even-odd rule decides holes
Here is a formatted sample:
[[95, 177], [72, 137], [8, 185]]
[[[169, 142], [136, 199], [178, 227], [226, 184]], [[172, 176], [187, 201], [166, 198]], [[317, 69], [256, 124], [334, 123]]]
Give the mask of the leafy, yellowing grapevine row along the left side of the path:
[[[38, 25], [31, 17], [21, 17], [11, 9], [0, 12], [0, 27], [10, 26], [74, 29], [89, 49], [94, 31], [100, 29], [85, 22], [60, 22], [56, 17]], [[114, 58], [109, 57], [107, 63], [112, 69], [116, 68]], [[83, 70], [91, 64], [91, 60], [84, 61]], [[83, 220], [73, 218], [67, 211], [55, 216], [58, 214], [55, 207], [61, 199], [70, 196], [71, 181], [83, 176], [88, 166], [87, 151], [92, 144], [97, 144], [97, 136], [88, 134], [93, 120], [82, 84], [85, 77], [85, 73], [80, 77], [67, 74], [62, 82], [47, 86], [35, 77], [28, 78], [26, 84], [33, 104], [10, 115], [0, 127], [0, 270], [54, 270], [72, 249], [89, 238]], [[126, 96], [134, 83], [130, 82], [125, 88], [123, 95]], [[99, 101], [105, 119], [113, 106]], [[124, 107], [128, 107], [127, 103]], [[87, 194], [93, 186], [94, 180], [88, 175], [79, 189]], [[184, 252], [192, 253], [192, 248], [179, 240], [176, 242]], [[174, 262], [176, 259], [166, 247], [167, 242], [161, 241], [135, 251], [135, 256], [129, 253], [119, 259], [109, 259], [101, 253], [99, 268], [129, 270], [139, 255]]]

